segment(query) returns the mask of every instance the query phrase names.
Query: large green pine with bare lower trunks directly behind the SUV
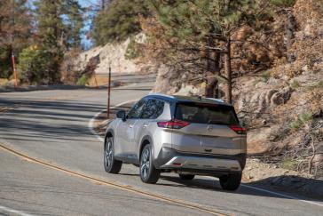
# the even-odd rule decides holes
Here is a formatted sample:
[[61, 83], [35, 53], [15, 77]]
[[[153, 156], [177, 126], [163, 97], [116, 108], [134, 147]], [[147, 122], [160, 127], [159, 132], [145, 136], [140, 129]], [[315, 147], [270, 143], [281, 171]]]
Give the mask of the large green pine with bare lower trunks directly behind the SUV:
[[213, 90], [219, 79], [225, 80], [226, 100], [232, 102], [231, 52], [235, 43], [232, 35], [244, 25], [256, 26], [258, 21], [270, 20], [270, 5], [261, 0], [150, 0], [150, 3], [164, 29], [164, 40], [171, 44], [166, 51], [172, 56], [170, 60], [182, 63], [193, 73], [203, 73], [208, 97], [217, 97]]

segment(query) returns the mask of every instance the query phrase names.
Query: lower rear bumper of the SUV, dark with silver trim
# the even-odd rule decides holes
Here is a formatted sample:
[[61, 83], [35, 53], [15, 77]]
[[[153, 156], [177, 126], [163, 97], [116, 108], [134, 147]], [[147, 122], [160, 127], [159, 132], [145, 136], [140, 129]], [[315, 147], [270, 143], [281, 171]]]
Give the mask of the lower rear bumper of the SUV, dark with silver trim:
[[197, 155], [178, 152], [174, 148], [162, 148], [154, 160], [155, 167], [159, 169], [217, 173], [242, 172], [246, 164], [246, 154], [233, 156], [226, 155]]

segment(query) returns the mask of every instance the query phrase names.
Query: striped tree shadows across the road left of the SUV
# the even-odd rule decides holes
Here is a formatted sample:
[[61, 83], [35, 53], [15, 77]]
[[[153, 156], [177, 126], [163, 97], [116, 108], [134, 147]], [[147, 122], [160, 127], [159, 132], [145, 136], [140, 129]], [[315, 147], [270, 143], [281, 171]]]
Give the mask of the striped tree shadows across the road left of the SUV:
[[[91, 136], [87, 122], [104, 106], [75, 100], [1, 99], [0, 137], [5, 140], [84, 140]], [[84, 124], [85, 123], [85, 124]], [[19, 138], [19, 139], [18, 139]], [[47, 140], [48, 139], [48, 140]]]

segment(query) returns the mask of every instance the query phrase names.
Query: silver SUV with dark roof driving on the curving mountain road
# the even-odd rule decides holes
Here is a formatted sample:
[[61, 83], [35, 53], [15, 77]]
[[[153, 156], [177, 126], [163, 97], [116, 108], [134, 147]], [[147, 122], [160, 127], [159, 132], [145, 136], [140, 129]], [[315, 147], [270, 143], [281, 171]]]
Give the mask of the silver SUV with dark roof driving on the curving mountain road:
[[182, 180], [209, 175], [234, 190], [246, 164], [246, 140], [223, 100], [150, 94], [108, 124], [104, 166], [118, 173], [122, 163], [135, 164], [146, 183], [156, 183], [161, 172], [177, 172]]

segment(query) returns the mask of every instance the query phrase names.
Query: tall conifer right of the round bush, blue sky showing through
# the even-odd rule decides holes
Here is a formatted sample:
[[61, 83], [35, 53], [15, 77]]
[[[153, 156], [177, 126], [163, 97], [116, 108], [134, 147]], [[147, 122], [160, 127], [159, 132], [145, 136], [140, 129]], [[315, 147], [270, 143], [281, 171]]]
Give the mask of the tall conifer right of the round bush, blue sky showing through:
[[76, 0], [36, 1], [35, 18], [39, 49], [48, 60], [48, 83], [60, 83], [64, 52], [78, 48], [83, 27], [82, 8]]

